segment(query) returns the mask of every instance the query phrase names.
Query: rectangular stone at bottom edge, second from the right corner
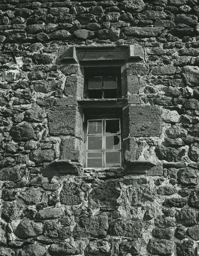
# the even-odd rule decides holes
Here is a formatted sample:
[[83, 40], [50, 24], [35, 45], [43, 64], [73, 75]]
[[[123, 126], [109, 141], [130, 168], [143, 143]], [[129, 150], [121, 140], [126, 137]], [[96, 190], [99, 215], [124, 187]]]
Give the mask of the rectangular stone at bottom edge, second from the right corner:
[[157, 254], [161, 256], [171, 255], [174, 251], [175, 243], [173, 241], [165, 239], [149, 239], [147, 245], [147, 251], [152, 254]]

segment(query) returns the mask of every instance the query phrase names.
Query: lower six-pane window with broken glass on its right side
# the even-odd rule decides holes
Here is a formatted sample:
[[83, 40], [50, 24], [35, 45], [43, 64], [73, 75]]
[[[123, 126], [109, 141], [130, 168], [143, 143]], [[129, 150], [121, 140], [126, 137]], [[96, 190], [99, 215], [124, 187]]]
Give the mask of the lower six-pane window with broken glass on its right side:
[[88, 119], [85, 147], [85, 167], [120, 167], [120, 119]]

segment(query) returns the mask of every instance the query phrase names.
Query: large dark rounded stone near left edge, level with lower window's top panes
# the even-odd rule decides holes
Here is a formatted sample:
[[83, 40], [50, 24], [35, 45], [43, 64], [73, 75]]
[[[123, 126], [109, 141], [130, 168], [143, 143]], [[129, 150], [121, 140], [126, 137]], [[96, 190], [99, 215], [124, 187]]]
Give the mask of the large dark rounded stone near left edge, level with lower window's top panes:
[[24, 122], [12, 127], [11, 136], [15, 142], [26, 142], [34, 138], [35, 132], [31, 124]]

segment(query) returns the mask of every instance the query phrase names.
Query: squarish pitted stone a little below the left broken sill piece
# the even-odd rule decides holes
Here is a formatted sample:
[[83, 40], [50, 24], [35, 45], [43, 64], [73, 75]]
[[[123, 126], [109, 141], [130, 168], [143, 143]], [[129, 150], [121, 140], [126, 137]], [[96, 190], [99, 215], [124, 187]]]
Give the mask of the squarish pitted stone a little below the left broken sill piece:
[[60, 202], [62, 204], [77, 205], [81, 204], [81, 189], [75, 183], [66, 183], [63, 185]]

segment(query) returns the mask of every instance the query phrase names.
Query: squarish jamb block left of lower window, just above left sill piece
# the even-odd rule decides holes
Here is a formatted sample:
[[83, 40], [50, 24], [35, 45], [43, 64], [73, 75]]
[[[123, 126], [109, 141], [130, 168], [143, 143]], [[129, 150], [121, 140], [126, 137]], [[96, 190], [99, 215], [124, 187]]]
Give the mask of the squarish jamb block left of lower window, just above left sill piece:
[[82, 141], [76, 138], [67, 138], [61, 140], [60, 159], [69, 159], [81, 162]]

